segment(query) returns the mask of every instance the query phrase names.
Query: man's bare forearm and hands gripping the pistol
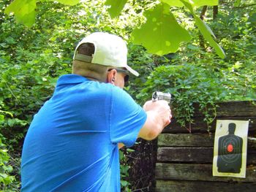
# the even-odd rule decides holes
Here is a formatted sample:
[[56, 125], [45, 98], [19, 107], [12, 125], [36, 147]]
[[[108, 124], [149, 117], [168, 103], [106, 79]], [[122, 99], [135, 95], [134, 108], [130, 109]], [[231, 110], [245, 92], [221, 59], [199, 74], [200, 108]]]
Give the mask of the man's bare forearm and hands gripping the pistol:
[[170, 107], [167, 101], [147, 101], [143, 109], [147, 113], [147, 119], [138, 137], [146, 140], [155, 139], [170, 123], [172, 118]]

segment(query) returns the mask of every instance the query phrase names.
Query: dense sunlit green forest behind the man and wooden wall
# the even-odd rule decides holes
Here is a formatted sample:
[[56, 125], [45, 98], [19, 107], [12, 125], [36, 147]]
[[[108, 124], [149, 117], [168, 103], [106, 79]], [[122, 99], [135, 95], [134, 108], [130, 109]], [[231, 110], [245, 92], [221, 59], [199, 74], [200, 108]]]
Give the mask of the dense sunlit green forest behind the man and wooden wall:
[[[176, 53], [156, 55], [135, 45], [131, 34], [145, 23], [145, 12], [157, 1], [127, 1], [121, 15], [111, 18], [105, 1], [67, 6], [42, 0], [30, 28], [4, 13], [10, 3], [0, 0], [0, 191], [20, 190], [20, 153], [29, 123], [50, 98], [58, 77], [71, 72], [75, 45], [91, 32], [108, 31], [127, 41], [129, 65], [140, 77], [132, 77], [125, 90], [140, 104], [151, 99], [153, 91], [171, 93], [173, 116], [181, 128], [192, 123], [194, 103], [200, 104], [206, 123], [211, 123], [218, 101], [256, 99], [253, 0], [223, 0], [215, 7], [194, 9], [214, 32], [225, 58], [203, 38], [186, 7], [170, 11], [192, 39], [181, 42]], [[161, 37], [151, 37], [157, 38]], [[147, 164], [151, 147], [151, 142], [139, 140], [120, 152], [123, 191], [152, 190], [153, 175], [145, 171], [152, 168]]]

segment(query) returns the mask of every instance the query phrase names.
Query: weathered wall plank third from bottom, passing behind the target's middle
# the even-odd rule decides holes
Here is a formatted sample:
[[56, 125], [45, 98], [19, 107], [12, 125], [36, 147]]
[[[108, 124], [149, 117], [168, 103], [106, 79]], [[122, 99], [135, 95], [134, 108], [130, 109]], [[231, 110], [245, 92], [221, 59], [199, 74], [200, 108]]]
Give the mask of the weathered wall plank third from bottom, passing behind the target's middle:
[[[212, 164], [213, 147], [159, 147], [157, 161]], [[247, 150], [247, 165], [256, 164], [256, 150]]]

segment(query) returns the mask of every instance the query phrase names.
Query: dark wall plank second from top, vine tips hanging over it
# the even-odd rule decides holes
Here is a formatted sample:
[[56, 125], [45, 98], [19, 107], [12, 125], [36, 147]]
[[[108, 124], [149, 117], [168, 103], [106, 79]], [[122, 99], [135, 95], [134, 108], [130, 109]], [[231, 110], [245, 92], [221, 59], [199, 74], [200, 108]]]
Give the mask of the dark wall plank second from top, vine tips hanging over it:
[[[256, 109], [255, 109], [256, 111]], [[193, 118], [194, 122], [189, 125], [187, 123], [186, 127], [181, 127], [181, 125], [176, 121], [175, 118], [172, 122], [162, 131], [163, 133], [196, 133], [196, 132], [215, 132], [217, 120], [250, 120], [249, 121], [249, 135], [255, 135], [256, 133], [256, 117], [246, 116], [246, 117], [225, 117], [216, 118], [213, 123], [209, 124], [203, 120], [203, 118]]]

